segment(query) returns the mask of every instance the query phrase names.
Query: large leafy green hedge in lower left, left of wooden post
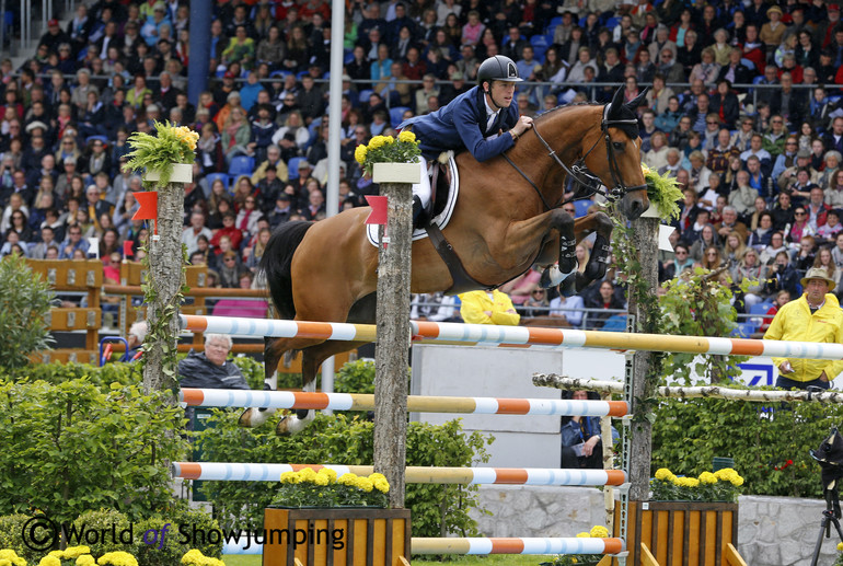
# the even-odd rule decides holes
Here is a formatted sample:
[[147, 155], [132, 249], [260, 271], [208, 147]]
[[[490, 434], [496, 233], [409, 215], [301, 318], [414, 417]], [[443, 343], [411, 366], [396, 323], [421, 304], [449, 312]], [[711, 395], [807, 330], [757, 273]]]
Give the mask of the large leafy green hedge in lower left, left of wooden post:
[[111, 388], [0, 381], [0, 513], [38, 509], [69, 522], [114, 508], [136, 520], [170, 504], [166, 462], [186, 449], [182, 409], [169, 392]]

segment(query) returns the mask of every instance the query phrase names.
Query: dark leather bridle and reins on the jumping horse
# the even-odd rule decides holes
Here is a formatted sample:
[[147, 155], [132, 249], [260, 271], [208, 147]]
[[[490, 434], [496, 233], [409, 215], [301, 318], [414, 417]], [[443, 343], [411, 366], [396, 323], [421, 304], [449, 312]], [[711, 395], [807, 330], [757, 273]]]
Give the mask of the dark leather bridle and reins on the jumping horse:
[[577, 192], [575, 196], [571, 198], [561, 200], [554, 206], [551, 206], [547, 203], [547, 199], [544, 198], [544, 195], [542, 194], [541, 189], [536, 186], [535, 183], [524, 173], [521, 171], [521, 169], [516, 165], [516, 163], [507, 155], [506, 152], [504, 152], [504, 159], [509, 162], [512, 168], [515, 168], [516, 171], [518, 171], [524, 180], [527, 180], [528, 183], [530, 183], [530, 186], [532, 186], [535, 189], [535, 193], [539, 195], [539, 198], [542, 200], [542, 204], [544, 205], [544, 208], [546, 210], [553, 210], [554, 208], [558, 208], [563, 205], [566, 205], [568, 203], [571, 203], [574, 200], [581, 200], [586, 198], [590, 198], [592, 195], [602, 195], [605, 197], [607, 200], [610, 203], [614, 203], [616, 200], [620, 200], [624, 196], [626, 196], [627, 193], [633, 193], [635, 190], [647, 190], [647, 185], [634, 185], [634, 186], [626, 186], [623, 182], [623, 177], [621, 176], [621, 169], [617, 165], [617, 155], [614, 151], [614, 148], [612, 148], [612, 139], [609, 137], [609, 128], [611, 127], [617, 127], [622, 125], [637, 125], [638, 120], [634, 118], [630, 119], [609, 119], [609, 112], [611, 111], [612, 103], [607, 104], [603, 106], [603, 115], [602, 119], [600, 122], [600, 131], [602, 132], [602, 139], [605, 140], [605, 154], [609, 159], [609, 173], [612, 175], [612, 183], [614, 183], [614, 186], [611, 189], [607, 189], [603, 187], [603, 182], [600, 181], [599, 177], [593, 175], [588, 168], [586, 166], [586, 158], [594, 151], [594, 148], [597, 148], [597, 145], [600, 142], [601, 138], [598, 138], [594, 143], [591, 146], [591, 149], [589, 149], [582, 157], [577, 159], [577, 161], [574, 162], [574, 164], [568, 168], [556, 154], [556, 150], [551, 148], [551, 145], [547, 143], [547, 141], [542, 137], [541, 134], [539, 134], [539, 128], [536, 128], [535, 123], [533, 123], [533, 127], [531, 128], [535, 132], [535, 137], [539, 138], [539, 141], [542, 142], [544, 148], [547, 150], [547, 155], [553, 158], [553, 160], [565, 171], [565, 173], [568, 174], [568, 177], [571, 178], [575, 183], [581, 185], [586, 188], [585, 192], [580, 193]]

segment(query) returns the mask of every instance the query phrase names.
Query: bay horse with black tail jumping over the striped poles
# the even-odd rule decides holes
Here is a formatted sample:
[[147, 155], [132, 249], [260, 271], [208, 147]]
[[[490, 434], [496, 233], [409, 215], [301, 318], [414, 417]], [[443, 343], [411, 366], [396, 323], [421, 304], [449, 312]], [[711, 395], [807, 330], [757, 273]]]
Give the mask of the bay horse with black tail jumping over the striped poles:
[[[645, 91], [646, 92], [646, 91]], [[442, 230], [474, 288], [503, 285], [533, 265], [576, 272], [577, 290], [605, 274], [612, 222], [603, 212], [574, 221], [561, 207], [570, 176], [596, 190], [602, 183], [610, 199], [635, 219], [649, 206], [640, 168], [640, 138], [634, 108], [645, 92], [623, 103], [619, 89], [605, 105], [568, 105], [535, 118], [505, 155], [478, 163], [471, 153], [457, 157], [460, 196]], [[547, 141], [546, 141], [547, 140]], [[590, 172], [590, 173], [589, 173]], [[589, 195], [590, 196], [590, 195]], [[261, 267], [280, 319], [373, 324], [378, 249], [366, 236], [370, 208], [346, 210], [320, 222], [287, 222], [270, 238]], [[596, 231], [585, 273], [577, 272], [576, 241]], [[448, 291], [453, 279], [430, 239], [412, 247], [411, 290]], [[546, 275], [546, 274], [545, 274]], [[546, 286], [559, 277], [545, 277]], [[276, 369], [287, 351], [302, 350], [304, 391], [315, 390], [316, 372], [330, 356], [366, 343], [313, 338], [270, 338], [265, 348], [265, 389], [275, 389]], [[258, 426], [274, 409], [247, 408], [242, 426]], [[297, 411], [278, 424], [279, 434], [296, 434], [314, 417]]]

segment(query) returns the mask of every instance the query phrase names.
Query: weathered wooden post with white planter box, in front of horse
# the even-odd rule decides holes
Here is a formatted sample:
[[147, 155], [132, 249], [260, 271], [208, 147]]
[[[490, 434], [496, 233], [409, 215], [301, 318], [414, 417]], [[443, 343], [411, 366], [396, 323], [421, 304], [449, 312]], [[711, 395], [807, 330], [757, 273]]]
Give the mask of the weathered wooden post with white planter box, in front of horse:
[[412, 185], [418, 163], [376, 163], [372, 181], [386, 197], [386, 226], [378, 229], [378, 344], [374, 355], [374, 469], [390, 483], [390, 507], [404, 507], [409, 366]]

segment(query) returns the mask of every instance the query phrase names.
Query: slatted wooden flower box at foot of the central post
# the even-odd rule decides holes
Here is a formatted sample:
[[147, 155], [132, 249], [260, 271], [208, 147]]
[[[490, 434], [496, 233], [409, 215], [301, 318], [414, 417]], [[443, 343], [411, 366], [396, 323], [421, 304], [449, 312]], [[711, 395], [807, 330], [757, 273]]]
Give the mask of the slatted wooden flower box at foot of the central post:
[[263, 566], [401, 566], [409, 562], [409, 509], [268, 507]]

